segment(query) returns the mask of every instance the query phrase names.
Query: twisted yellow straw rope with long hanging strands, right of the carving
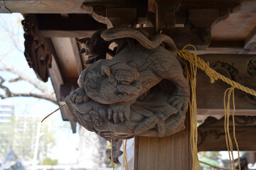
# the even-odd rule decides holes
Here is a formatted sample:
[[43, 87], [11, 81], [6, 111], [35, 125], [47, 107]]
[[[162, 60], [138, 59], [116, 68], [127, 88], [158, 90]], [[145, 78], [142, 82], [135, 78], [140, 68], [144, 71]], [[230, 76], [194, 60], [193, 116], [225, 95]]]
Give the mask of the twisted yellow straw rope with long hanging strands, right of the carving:
[[[191, 101], [189, 102], [189, 108], [190, 108], [190, 117], [191, 117], [191, 152], [192, 152], [192, 158], [193, 158], [193, 170], [199, 169], [199, 161], [198, 161], [198, 149], [197, 149], [197, 120], [196, 120], [196, 67], [202, 69], [208, 77], [210, 77], [210, 82], [213, 83], [215, 80], [221, 79], [227, 84], [230, 84], [231, 87], [228, 88], [225, 91], [224, 94], [224, 108], [225, 108], [225, 139], [226, 139], [226, 145], [228, 147], [228, 154], [230, 158], [230, 169], [232, 169], [231, 165], [231, 157], [233, 160], [233, 169], [235, 170], [235, 160], [233, 156], [233, 143], [230, 137], [230, 130], [229, 130], [229, 116], [230, 116], [230, 98], [231, 94], [233, 96], [233, 137], [235, 140], [235, 145], [238, 149], [238, 164], [239, 169], [240, 167], [240, 154], [239, 154], [239, 147], [238, 147], [238, 141], [235, 137], [235, 94], [234, 90], [240, 89], [242, 91], [245, 91], [247, 94], [251, 94], [253, 96], [256, 96], [256, 91], [250, 88], [247, 88], [246, 86], [242, 86], [238, 82], [235, 82], [233, 80], [228, 79], [227, 77], [224, 77], [222, 74], [219, 74], [214, 69], [210, 68], [209, 63], [204, 62], [200, 57], [196, 56], [196, 54], [192, 54], [191, 52], [188, 52], [188, 50], [185, 50], [186, 47], [191, 46], [195, 49], [193, 45], [186, 45], [183, 47], [183, 50], [178, 52], [178, 56], [183, 58], [184, 60], [187, 60], [190, 63], [190, 72], [188, 71], [188, 66], [186, 66], [186, 73], [187, 73], [187, 79], [189, 84], [191, 85]], [[228, 103], [225, 103], [225, 98], [228, 93]], [[231, 157], [230, 157], [231, 153]]]

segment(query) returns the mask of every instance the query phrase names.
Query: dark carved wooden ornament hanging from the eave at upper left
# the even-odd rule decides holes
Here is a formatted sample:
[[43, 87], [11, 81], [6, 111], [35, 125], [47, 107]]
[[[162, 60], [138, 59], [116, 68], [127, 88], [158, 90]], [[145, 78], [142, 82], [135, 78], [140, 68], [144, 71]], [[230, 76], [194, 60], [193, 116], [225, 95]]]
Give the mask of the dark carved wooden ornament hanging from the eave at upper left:
[[46, 39], [41, 36], [33, 14], [26, 14], [21, 21], [25, 31], [24, 55], [29, 67], [33, 68], [38, 79], [48, 81], [48, 69], [51, 67], [51, 52]]

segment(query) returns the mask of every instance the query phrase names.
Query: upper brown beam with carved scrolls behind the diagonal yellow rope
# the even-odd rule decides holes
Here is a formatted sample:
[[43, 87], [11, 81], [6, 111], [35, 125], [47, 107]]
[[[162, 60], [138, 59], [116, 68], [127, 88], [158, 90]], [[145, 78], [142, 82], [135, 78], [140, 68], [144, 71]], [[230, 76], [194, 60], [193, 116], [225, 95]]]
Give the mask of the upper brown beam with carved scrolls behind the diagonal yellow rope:
[[[256, 89], [255, 81], [255, 59], [256, 55], [199, 55], [203, 60], [209, 62], [210, 67], [225, 77], [233, 79], [238, 83], [252, 89]], [[200, 69], [197, 74], [197, 106], [198, 109], [208, 109], [208, 113], [216, 114], [223, 110], [223, 96], [225, 89], [230, 87], [223, 81], [218, 80], [210, 84], [210, 79]], [[255, 115], [256, 100], [242, 91], [235, 90], [235, 108], [237, 111]], [[214, 104], [213, 104], [214, 103]], [[210, 109], [214, 109], [210, 111]], [[217, 109], [217, 110], [215, 110]], [[200, 111], [200, 110], [198, 110]]]

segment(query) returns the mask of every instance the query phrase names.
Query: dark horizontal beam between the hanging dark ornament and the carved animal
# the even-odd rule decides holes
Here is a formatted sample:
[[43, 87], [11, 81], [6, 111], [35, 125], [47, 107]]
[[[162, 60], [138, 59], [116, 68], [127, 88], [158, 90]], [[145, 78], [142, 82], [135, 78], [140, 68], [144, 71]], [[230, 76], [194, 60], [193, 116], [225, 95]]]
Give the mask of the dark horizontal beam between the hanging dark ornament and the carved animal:
[[107, 28], [103, 23], [95, 21], [88, 14], [69, 14], [68, 18], [61, 14], [36, 14], [38, 30], [44, 37], [87, 37], [95, 31]]

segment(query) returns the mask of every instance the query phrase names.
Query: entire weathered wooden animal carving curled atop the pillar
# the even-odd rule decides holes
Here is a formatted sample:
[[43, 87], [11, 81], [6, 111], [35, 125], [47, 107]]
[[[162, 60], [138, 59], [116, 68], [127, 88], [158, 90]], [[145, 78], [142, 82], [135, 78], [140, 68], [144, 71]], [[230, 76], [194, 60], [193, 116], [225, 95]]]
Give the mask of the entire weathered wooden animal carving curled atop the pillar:
[[118, 47], [87, 50], [92, 56], [111, 52], [114, 57], [95, 57], [80, 74], [80, 87], [65, 99], [78, 123], [107, 139], [164, 137], [183, 130], [190, 91], [173, 40], [164, 34], [149, 39], [134, 28], [110, 28], [97, 36], [90, 45], [116, 42]]

